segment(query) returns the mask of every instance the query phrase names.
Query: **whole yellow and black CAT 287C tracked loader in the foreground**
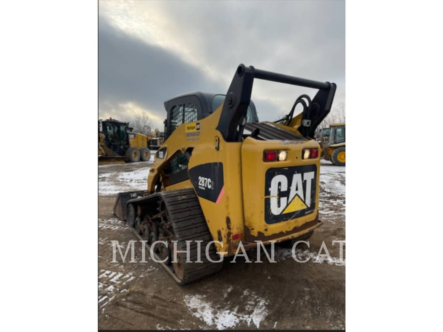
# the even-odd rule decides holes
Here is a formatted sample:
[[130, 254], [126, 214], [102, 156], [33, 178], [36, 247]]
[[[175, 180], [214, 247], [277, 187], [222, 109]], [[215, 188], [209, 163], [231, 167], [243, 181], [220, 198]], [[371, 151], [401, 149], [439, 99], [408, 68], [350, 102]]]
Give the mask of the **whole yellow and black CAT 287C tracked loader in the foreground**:
[[[283, 119], [259, 123], [251, 101], [254, 79], [318, 92], [313, 99], [298, 97]], [[180, 285], [218, 272], [221, 263], [210, 260], [220, 259], [216, 252], [234, 255], [240, 241], [248, 250], [257, 240], [307, 239], [321, 224], [314, 134], [335, 89], [334, 83], [241, 64], [226, 95], [189, 93], [166, 101], [165, 142], [155, 154], [147, 190], [120, 193], [114, 213], [138, 239], [164, 241], [154, 246], [155, 257]], [[303, 112], [294, 116], [298, 104]], [[171, 263], [171, 241], [178, 251], [189, 245], [190, 261], [178, 252]], [[209, 260], [211, 241], [218, 242], [208, 246]]]

